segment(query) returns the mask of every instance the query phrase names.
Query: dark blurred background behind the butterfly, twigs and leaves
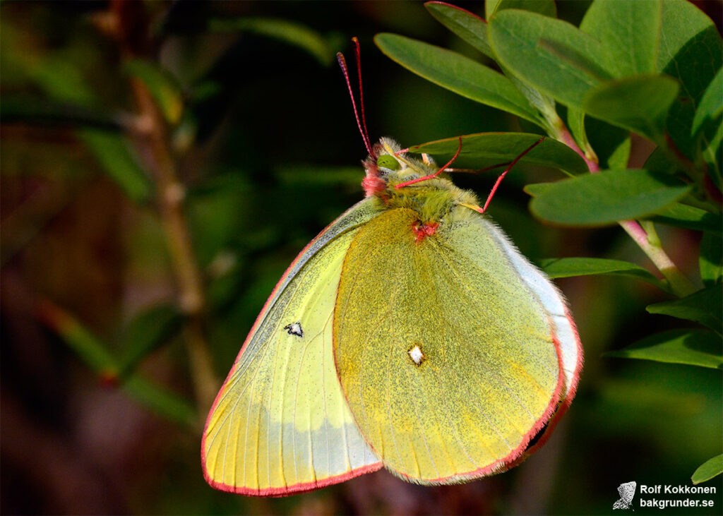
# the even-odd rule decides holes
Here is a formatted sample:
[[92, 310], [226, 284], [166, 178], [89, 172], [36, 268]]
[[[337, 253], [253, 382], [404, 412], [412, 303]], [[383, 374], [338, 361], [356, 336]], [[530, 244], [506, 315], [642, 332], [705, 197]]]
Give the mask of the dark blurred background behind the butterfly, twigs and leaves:
[[[484, 13], [482, 2], [461, 5]], [[561, 2], [559, 17], [577, 24], [588, 5]], [[720, 20], [718, 2], [699, 5]], [[349, 40], [358, 36], [372, 140], [388, 135], [408, 146], [520, 130], [514, 117], [442, 90], [378, 51], [373, 36], [389, 31], [479, 59], [422, 3], [138, 6], [152, 35], [140, 52], [161, 63], [186, 99], [173, 142], [188, 189], [194, 249], [215, 289], [209, 297], [218, 299], [206, 318], [218, 377], [230, 369], [288, 263], [361, 198], [365, 151], [333, 57], [322, 64], [274, 38], [210, 33], [210, 20], [293, 20], [320, 33], [330, 56], [344, 51], [350, 64]], [[720, 371], [601, 356], [674, 327], [677, 322], [644, 309], [666, 297], [634, 280], [571, 278], [557, 283], [568, 296], [586, 352], [580, 388], [549, 443], [520, 467], [434, 488], [382, 471], [286, 499], [211, 489], [200, 470], [200, 429], [168, 421], [102, 382], [38, 314], [38, 306], [51, 302], [122, 353], [129, 321], [174, 298], [155, 205], [125, 197], [98, 155], [77, 137], [77, 129], [104, 124], [108, 113], [122, 119], [136, 110], [120, 46], [99, 29], [106, 9], [102, 1], [0, 5], [1, 93], [4, 106], [14, 106], [3, 111], [0, 154], [4, 514], [609, 514], [620, 483], [689, 484], [693, 470], [721, 451]], [[87, 112], [73, 118], [59, 110], [78, 93], [75, 88], [61, 99], [69, 77], [93, 92], [88, 111], [98, 113], [100, 122]], [[642, 163], [650, 150], [646, 142], [634, 142], [633, 162]], [[620, 228], [569, 230], [534, 220], [522, 186], [557, 177], [554, 171], [515, 169], [492, 202], [489, 213], [523, 254], [532, 260], [626, 259], [651, 267]], [[457, 183], [484, 198], [493, 181], [465, 175]], [[659, 231], [675, 262], [696, 277], [698, 235]], [[228, 264], [231, 272], [224, 275]], [[138, 366], [139, 374], [192, 403], [189, 370], [179, 332], [171, 332]], [[706, 485], [722, 492], [720, 478]], [[713, 498], [716, 507], [709, 512], [719, 513], [721, 496]]]

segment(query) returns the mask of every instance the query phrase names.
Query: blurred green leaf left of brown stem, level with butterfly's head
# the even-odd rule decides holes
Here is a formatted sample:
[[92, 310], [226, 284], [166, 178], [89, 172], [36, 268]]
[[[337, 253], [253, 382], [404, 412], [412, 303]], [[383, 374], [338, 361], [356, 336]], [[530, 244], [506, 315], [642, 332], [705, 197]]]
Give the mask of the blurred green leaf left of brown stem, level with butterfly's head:
[[80, 129], [78, 137], [108, 177], [113, 179], [129, 199], [138, 204], [146, 202], [153, 194], [153, 183], [120, 134], [100, 129]]

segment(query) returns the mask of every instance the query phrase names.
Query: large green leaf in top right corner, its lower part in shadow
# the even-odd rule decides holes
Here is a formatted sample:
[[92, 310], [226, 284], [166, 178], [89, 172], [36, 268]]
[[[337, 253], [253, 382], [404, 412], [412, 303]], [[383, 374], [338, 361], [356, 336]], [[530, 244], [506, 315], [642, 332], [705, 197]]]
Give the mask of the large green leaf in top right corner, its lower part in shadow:
[[662, 39], [657, 70], [680, 82], [680, 98], [670, 108], [666, 131], [688, 158], [697, 144], [691, 134], [696, 106], [723, 63], [723, 45], [716, 26], [692, 2], [662, 3]]

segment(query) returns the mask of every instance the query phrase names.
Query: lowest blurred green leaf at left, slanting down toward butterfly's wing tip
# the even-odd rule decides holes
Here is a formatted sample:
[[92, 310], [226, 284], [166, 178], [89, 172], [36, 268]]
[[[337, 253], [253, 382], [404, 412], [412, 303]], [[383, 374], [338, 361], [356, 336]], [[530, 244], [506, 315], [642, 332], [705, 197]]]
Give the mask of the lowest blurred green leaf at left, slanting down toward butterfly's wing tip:
[[121, 389], [145, 408], [169, 421], [187, 426], [198, 423], [196, 410], [184, 397], [147, 379], [131, 377], [122, 384]]

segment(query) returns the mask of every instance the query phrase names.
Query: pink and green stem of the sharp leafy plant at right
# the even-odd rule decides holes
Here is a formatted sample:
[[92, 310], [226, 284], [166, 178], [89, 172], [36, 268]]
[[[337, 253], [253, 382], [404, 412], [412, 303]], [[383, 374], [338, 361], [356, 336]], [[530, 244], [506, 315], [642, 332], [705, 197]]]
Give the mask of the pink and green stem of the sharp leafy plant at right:
[[[578, 147], [564, 124], [562, 125], [562, 130], [560, 131], [560, 141], [577, 152], [578, 155], [585, 160], [590, 173], [598, 173], [600, 171], [600, 165], [585, 157], [585, 153], [580, 150], [580, 147]], [[676, 296], [684, 297], [696, 291], [696, 287], [693, 283], [690, 283], [690, 280], [685, 277], [683, 272], [680, 272], [680, 269], [678, 269], [663, 249], [660, 239], [654, 231], [652, 223], [650, 224], [649, 232], [646, 232], [637, 220], [620, 220], [618, 221], [618, 224], [620, 224], [620, 226], [625, 230], [625, 233], [630, 235], [630, 238], [633, 238], [633, 241], [638, 244], [641, 250], [647, 257], [649, 257], [649, 259], [651, 259], [651, 262], [653, 262], [664, 278], [668, 280], [668, 284]]]

